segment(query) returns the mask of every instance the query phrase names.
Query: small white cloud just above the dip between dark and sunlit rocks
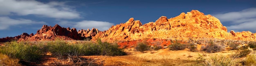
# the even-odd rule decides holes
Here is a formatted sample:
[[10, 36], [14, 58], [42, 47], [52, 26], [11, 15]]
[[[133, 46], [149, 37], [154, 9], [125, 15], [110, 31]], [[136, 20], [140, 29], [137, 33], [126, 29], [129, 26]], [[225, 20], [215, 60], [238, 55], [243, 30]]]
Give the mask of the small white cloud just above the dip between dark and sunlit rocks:
[[102, 22], [102, 21], [92, 21], [92, 20], [83, 20], [81, 22], [70, 22], [70, 21], [61, 21], [59, 22], [61, 26], [75, 27], [76, 29], [99, 29], [100, 31], [108, 30], [114, 23]]

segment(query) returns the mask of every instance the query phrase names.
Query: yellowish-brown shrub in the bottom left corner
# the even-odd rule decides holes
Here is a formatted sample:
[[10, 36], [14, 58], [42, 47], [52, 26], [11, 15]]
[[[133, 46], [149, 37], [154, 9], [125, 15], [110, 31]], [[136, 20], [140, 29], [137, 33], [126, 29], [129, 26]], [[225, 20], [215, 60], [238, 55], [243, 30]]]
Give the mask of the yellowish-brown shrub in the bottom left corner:
[[19, 59], [13, 59], [0, 53], [0, 66], [21, 66]]

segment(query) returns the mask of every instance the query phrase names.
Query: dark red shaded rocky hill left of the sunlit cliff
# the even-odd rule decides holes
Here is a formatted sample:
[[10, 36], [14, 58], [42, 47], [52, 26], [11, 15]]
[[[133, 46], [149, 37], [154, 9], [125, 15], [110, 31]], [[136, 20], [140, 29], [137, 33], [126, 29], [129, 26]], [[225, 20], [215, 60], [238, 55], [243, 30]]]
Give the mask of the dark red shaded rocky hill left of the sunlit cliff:
[[55, 40], [56, 37], [61, 38], [63, 40], [81, 40], [82, 38], [80, 35], [78, 35], [75, 28], [63, 28], [56, 24], [53, 27], [43, 25], [43, 27], [40, 30], [38, 30], [34, 36], [29, 38], [29, 40]]

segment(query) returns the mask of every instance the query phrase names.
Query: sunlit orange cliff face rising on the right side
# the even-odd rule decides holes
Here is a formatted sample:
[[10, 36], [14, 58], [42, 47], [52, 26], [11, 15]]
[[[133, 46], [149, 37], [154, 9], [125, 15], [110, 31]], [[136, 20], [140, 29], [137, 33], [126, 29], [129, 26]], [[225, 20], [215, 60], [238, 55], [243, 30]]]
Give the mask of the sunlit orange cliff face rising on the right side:
[[204, 15], [197, 10], [181, 13], [180, 15], [167, 19], [161, 16], [155, 22], [149, 22], [142, 25], [139, 20], [130, 18], [126, 23], [117, 24], [110, 27], [102, 35], [102, 40], [142, 40], [144, 38], [159, 39], [229, 39], [229, 40], [248, 40], [255, 41], [256, 35], [252, 32], [234, 33], [227, 32], [217, 18], [211, 15]]

